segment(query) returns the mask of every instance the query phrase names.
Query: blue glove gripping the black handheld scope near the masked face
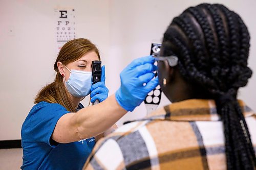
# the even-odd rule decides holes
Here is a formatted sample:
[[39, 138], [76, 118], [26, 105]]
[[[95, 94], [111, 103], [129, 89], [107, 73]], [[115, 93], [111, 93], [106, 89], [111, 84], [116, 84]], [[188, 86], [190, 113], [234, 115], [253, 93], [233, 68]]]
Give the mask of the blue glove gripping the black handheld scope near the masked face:
[[94, 103], [97, 99], [99, 102], [108, 98], [109, 89], [105, 86], [105, 66], [101, 67], [101, 81], [92, 85], [91, 102]]

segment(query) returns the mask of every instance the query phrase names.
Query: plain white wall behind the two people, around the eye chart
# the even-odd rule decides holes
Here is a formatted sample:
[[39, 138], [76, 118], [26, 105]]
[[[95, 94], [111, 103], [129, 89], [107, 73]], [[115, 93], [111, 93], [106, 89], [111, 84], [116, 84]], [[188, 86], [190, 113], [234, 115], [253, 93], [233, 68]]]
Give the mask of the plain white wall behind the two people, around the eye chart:
[[[0, 1], [0, 140], [20, 139], [20, 127], [38, 90], [53, 81], [57, 57], [54, 8], [75, 9], [76, 37], [89, 38], [106, 65], [110, 95], [120, 85], [119, 72], [133, 59], [150, 53], [153, 40], [160, 40], [173, 17], [191, 5], [220, 2], [238, 12], [251, 33], [249, 66], [256, 71], [256, 1]], [[10, 34], [9, 30], [13, 33]], [[255, 76], [241, 90], [240, 98], [256, 110]], [[83, 103], [86, 105], [87, 101]], [[163, 96], [160, 106], [168, 104]], [[145, 115], [144, 104], [117, 123]], [[113, 113], [115, 114], [115, 113]]]

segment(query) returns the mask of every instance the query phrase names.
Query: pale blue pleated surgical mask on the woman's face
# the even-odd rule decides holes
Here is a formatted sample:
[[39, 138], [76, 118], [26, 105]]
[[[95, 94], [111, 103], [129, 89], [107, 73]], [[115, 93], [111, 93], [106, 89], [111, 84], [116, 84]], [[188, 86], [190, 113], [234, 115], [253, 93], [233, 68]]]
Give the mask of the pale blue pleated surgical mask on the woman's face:
[[67, 82], [65, 82], [67, 90], [70, 92], [70, 94], [76, 98], [82, 98], [90, 94], [91, 87], [93, 85], [92, 71], [79, 71], [72, 69], [71, 71], [69, 70], [69, 72], [69, 79]]

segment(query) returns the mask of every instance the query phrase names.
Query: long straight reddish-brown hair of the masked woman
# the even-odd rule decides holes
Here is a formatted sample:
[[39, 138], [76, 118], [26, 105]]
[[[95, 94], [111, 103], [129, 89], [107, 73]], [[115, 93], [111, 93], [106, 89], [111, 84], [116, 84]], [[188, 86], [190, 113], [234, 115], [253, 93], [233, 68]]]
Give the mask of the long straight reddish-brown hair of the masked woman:
[[42, 101], [58, 103], [68, 111], [76, 112], [76, 108], [73, 107], [68, 97], [69, 94], [63, 83], [63, 77], [59, 73], [57, 62], [60, 61], [63, 65], [67, 65], [90, 51], [95, 51], [100, 60], [98, 48], [88, 39], [77, 38], [63, 45], [54, 64], [54, 70], [56, 71], [55, 80], [37, 93], [34, 103], [37, 104]]

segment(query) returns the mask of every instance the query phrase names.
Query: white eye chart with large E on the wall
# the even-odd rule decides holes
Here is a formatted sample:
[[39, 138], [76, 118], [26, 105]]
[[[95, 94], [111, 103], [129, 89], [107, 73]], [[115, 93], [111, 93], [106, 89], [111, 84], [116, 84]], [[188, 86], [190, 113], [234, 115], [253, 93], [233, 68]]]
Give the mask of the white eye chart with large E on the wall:
[[57, 51], [68, 41], [76, 37], [75, 34], [75, 10], [54, 9], [55, 29], [57, 39]]

